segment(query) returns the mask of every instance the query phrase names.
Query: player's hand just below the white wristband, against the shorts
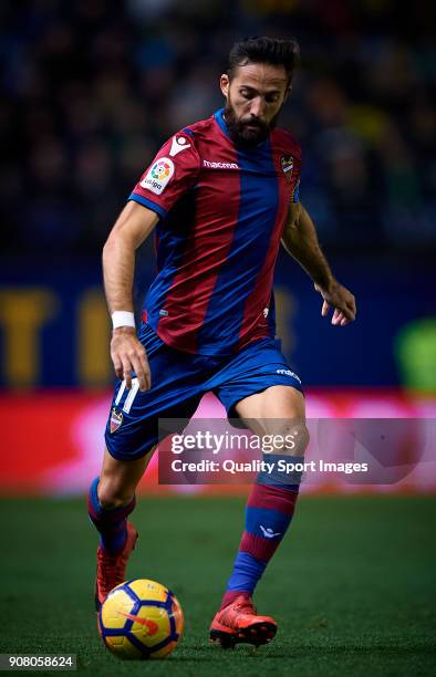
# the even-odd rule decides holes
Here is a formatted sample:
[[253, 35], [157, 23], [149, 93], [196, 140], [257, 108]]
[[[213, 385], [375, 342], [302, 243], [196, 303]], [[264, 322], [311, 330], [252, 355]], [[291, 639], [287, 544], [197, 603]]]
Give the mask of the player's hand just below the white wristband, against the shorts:
[[135, 372], [139, 390], [149, 390], [152, 387], [152, 375], [147, 354], [142, 343], [137, 340], [136, 331], [133, 326], [118, 326], [113, 331], [111, 357], [115, 374], [118, 378], [125, 379], [126, 388], [132, 387], [132, 372]]

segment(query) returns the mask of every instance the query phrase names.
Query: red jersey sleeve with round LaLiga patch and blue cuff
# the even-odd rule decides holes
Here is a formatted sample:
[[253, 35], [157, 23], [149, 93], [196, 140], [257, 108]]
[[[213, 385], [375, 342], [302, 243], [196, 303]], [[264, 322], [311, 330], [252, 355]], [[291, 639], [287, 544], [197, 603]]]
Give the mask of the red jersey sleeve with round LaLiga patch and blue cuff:
[[162, 146], [128, 199], [164, 218], [196, 184], [199, 169], [200, 158], [194, 136], [185, 131], [179, 132]]

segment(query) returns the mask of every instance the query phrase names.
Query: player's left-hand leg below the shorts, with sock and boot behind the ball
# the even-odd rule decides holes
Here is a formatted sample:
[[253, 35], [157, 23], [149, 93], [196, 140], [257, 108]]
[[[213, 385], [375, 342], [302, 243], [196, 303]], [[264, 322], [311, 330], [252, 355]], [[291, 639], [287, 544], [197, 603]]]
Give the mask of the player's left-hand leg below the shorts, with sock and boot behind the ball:
[[107, 593], [126, 577], [128, 556], [138, 537], [127, 517], [135, 508], [135, 490], [153, 451], [126, 461], [113, 458], [105, 449], [101, 476], [91, 486], [90, 518], [101, 537], [95, 581], [97, 611]]

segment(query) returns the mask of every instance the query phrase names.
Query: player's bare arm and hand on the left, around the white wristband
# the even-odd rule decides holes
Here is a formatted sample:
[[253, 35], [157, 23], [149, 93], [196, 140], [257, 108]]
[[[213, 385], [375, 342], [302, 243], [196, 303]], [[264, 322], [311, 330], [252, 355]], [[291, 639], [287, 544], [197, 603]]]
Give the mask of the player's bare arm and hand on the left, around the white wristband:
[[[124, 207], [103, 248], [103, 277], [110, 313], [133, 312], [133, 278], [136, 249], [156, 226], [158, 216], [135, 201]], [[132, 386], [132, 372], [138, 379], [139, 389], [150, 387], [150, 372], [143, 345], [133, 326], [114, 329], [111, 341], [111, 357], [115, 374]]]

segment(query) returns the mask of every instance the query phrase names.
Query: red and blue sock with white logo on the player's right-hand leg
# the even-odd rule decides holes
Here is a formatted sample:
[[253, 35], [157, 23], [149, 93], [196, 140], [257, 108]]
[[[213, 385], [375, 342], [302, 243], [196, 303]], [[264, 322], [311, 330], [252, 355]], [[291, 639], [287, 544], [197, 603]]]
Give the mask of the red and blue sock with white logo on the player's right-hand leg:
[[303, 458], [268, 454], [263, 455], [263, 460], [273, 462], [274, 469], [270, 473], [259, 473], [249, 493], [246, 529], [221, 608], [241, 594], [252, 595], [268, 562], [288, 531], [295, 510], [301, 472], [281, 472], [278, 470], [278, 462], [284, 460], [287, 464], [301, 464]]

